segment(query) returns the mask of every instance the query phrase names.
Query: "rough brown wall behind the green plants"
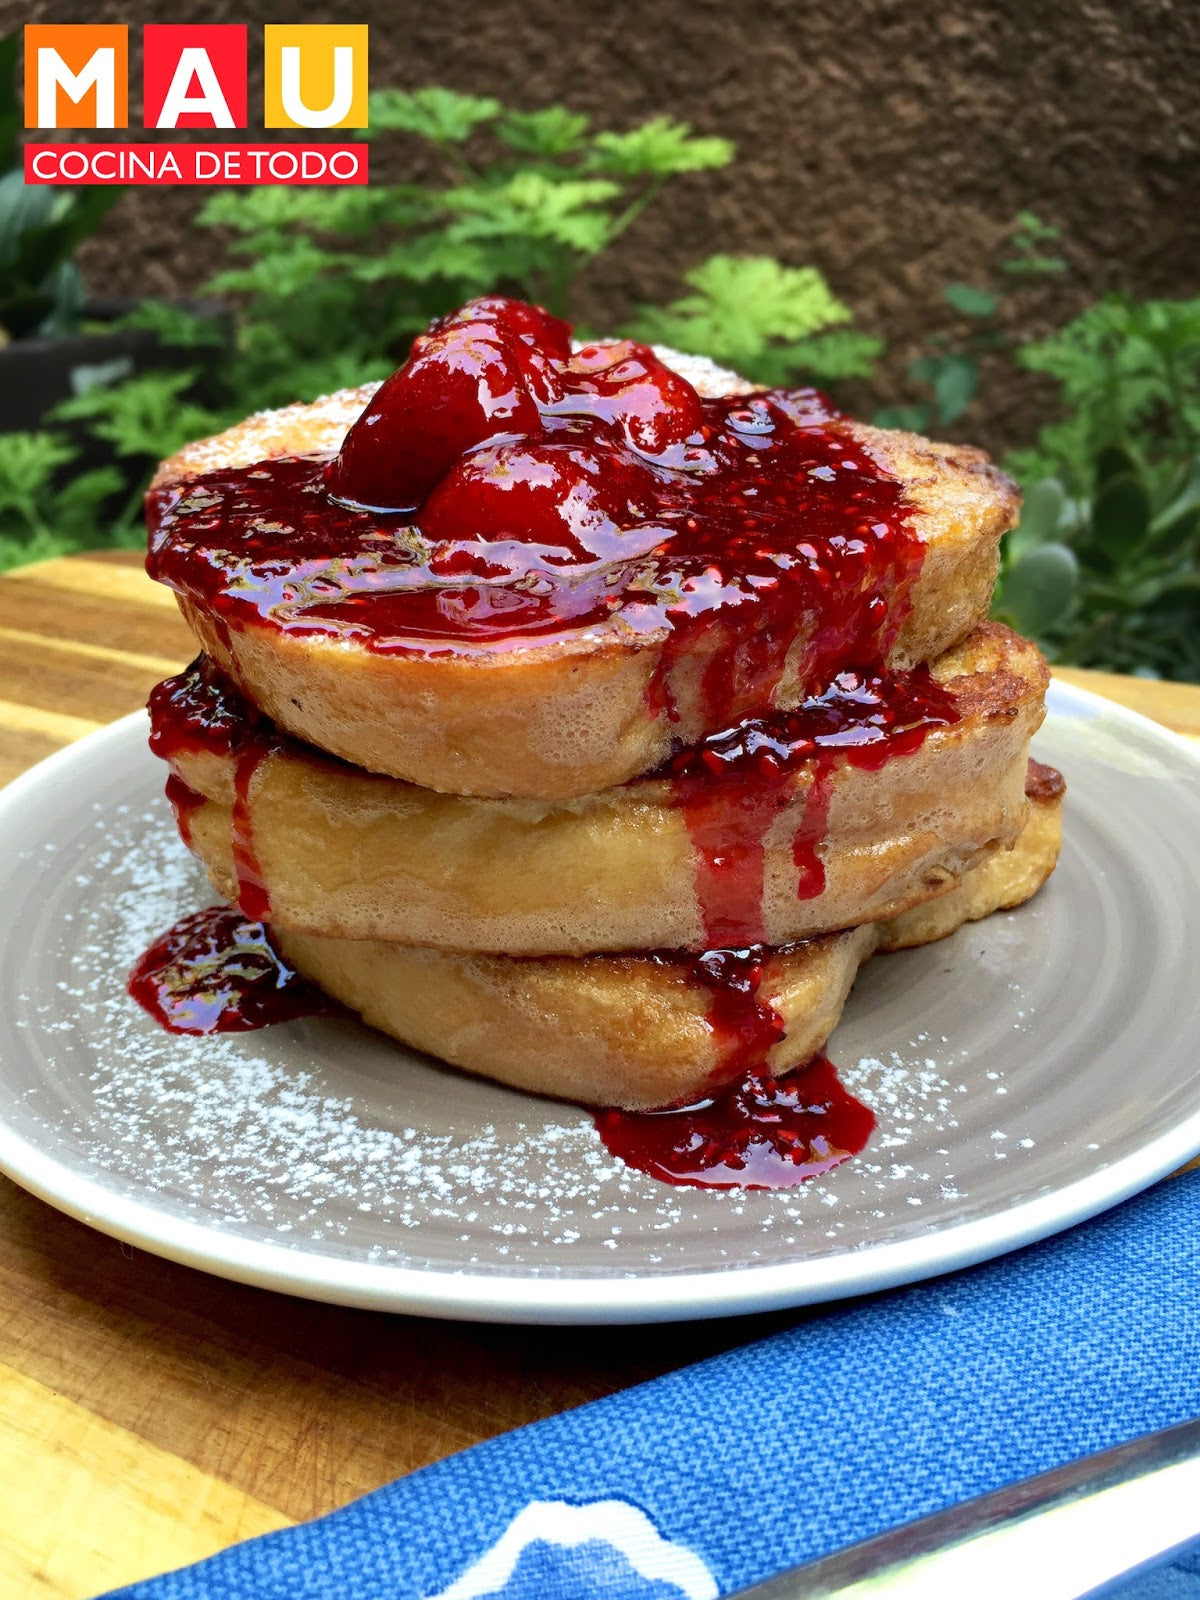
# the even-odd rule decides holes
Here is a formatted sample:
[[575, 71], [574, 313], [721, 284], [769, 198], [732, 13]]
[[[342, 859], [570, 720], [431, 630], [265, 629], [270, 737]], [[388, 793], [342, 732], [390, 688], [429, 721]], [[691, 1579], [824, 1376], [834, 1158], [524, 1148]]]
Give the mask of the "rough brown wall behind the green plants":
[[[576, 310], [603, 325], [630, 299], [667, 299], [715, 250], [813, 262], [888, 344], [866, 403], [906, 397], [906, 360], [931, 331], [958, 326], [942, 285], [987, 282], [1022, 208], [1062, 227], [1072, 272], [1013, 294], [1014, 330], [1045, 331], [1112, 288], [1198, 288], [1200, 8], [1187, 3], [282, 0], [251, 16], [234, 0], [147, 0], [138, 14], [126, 0], [19, 11], [0, 0], [5, 30], [27, 21], [366, 21], [376, 88], [445, 83], [520, 107], [565, 102], [614, 128], [669, 112], [725, 134], [736, 163], [678, 179], [590, 269]], [[250, 58], [253, 133], [253, 27]], [[131, 62], [134, 99], [139, 82]], [[411, 176], [416, 158], [402, 139], [373, 152], [389, 176]], [[219, 237], [190, 226], [197, 205], [195, 190], [128, 195], [85, 250], [91, 288], [197, 288], [221, 262]], [[1019, 443], [1051, 400], [1053, 389], [998, 370], [963, 432]]]

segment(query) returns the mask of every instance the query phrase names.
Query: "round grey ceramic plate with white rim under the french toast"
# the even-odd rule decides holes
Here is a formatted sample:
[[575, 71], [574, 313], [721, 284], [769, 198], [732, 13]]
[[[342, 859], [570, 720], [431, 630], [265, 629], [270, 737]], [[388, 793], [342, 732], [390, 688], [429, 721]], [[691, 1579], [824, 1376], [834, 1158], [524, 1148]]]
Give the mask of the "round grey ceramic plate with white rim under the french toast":
[[162, 1032], [125, 973], [211, 893], [130, 717], [0, 797], [0, 1168], [230, 1278], [510, 1322], [834, 1299], [1067, 1227], [1200, 1150], [1200, 755], [1062, 685], [1051, 707], [1058, 874], [867, 966], [830, 1054], [877, 1133], [784, 1194], [661, 1186], [584, 1112], [344, 1019]]

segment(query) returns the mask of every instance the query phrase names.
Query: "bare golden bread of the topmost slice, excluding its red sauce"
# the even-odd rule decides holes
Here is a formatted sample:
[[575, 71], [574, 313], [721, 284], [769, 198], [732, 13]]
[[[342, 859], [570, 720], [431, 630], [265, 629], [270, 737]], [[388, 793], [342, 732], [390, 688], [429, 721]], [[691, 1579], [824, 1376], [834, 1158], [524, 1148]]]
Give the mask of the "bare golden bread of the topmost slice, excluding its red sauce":
[[[749, 389], [696, 357], [659, 355], [702, 395]], [[333, 456], [374, 389], [251, 416], [165, 461], [155, 490], [178, 499], [203, 474], [294, 454]], [[850, 445], [902, 485], [909, 528], [923, 550], [888, 661], [898, 667], [930, 661], [987, 616], [1000, 536], [1018, 514], [1016, 486], [982, 451], [858, 422], [843, 427]], [[618, 613], [611, 624], [549, 640], [506, 640], [502, 648], [426, 654], [413, 645], [379, 653], [352, 632], [259, 626], [238, 610], [237, 594], [230, 602], [226, 592], [218, 605], [202, 587], [160, 576], [176, 587], [200, 646], [280, 728], [368, 771], [427, 789], [542, 800], [589, 795], [653, 770], [672, 742], [693, 744], [733, 720], [714, 723], [701, 693], [714, 658], [728, 651], [720, 630], [680, 650], [669, 626], [632, 632]], [[797, 618], [774, 706], [792, 706], [822, 686], [800, 677], [821, 626], [818, 611]]]

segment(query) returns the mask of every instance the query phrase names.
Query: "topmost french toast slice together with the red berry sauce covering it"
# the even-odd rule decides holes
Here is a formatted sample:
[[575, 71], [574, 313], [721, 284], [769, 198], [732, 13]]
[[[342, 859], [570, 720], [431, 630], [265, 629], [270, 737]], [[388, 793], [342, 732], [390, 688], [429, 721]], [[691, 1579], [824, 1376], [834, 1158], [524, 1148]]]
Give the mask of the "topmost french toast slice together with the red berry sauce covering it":
[[[446, 454], [426, 370], [453, 326], [418, 341], [382, 389], [251, 416], [158, 469], [152, 576], [296, 738], [427, 789], [571, 798], [794, 706], [845, 664], [930, 661], [987, 616], [1019, 498], [982, 451], [867, 427], [811, 390], [755, 390], [670, 350], [555, 354], [558, 334], [534, 347], [501, 333], [504, 360], [541, 362], [517, 373], [539, 397], [536, 448], [504, 434], [466, 448], [432, 493], [422, 480], [419, 510], [384, 514], [330, 485], [344, 488], [350, 443], [370, 446], [376, 422], [410, 477], [413, 430]], [[485, 341], [483, 378], [501, 342]], [[410, 395], [408, 432], [384, 438], [403, 382], [427, 403]], [[666, 394], [650, 422], [685, 414], [704, 443], [656, 434], [632, 448], [619, 405], [650, 389]]]

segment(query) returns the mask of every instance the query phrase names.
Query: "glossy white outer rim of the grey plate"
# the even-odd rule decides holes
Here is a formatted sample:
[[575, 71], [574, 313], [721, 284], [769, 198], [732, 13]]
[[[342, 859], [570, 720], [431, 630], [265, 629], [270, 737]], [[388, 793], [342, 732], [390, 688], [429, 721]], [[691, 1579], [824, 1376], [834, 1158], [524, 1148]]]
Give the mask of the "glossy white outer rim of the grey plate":
[[[1173, 760], [1195, 770], [1200, 749], [1149, 717], [1090, 690], [1054, 678], [1051, 717], [1104, 717], [1136, 728]], [[21, 773], [0, 792], [0, 830], [10, 808], [45, 782], [86, 774], [96, 752], [146, 731], [146, 712], [109, 723]], [[843, 1254], [765, 1266], [664, 1274], [502, 1274], [344, 1261], [302, 1246], [259, 1242], [160, 1211], [117, 1194], [46, 1155], [0, 1115], [0, 1171], [56, 1210], [128, 1245], [237, 1283], [306, 1299], [450, 1320], [506, 1323], [646, 1323], [742, 1315], [870, 1294], [960, 1270], [1083, 1222], [1170, 1173], [1200, 1152], [1197, 1109], [1173, 1128], [1096, 1171], [1019, 1202], [994, 1216], [934, 1227]], [[1102, 1150], [1098, 1152], [1102, 1162]]]

